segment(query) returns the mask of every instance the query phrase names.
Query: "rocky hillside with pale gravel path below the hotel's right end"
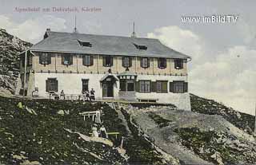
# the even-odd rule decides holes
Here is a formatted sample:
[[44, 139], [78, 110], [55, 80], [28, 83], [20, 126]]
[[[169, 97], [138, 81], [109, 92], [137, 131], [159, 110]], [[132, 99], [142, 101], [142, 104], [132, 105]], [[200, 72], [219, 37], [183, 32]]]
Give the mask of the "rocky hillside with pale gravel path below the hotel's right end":
[[178, 164], [256, 163], [253, 116], [194, 95], [191, 101], [193, 112], [156, 106], [124, 109]]

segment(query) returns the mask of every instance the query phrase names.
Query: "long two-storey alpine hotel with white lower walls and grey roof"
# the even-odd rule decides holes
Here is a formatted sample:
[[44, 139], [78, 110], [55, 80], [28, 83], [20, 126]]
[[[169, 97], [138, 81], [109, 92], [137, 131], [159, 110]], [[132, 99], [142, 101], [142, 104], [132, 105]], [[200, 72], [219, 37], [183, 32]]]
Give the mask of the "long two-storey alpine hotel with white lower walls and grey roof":
[[46, 29], [43, 40], [20, 59], [17, 94], [32, 96], [37, 88], [42, 97], [62, 90], [75, 95], [94, 88], [96, 100], [158, 102], [190, 110], [190, 57], [158, 39], [136, 37], [134, 32], [118, 37]]

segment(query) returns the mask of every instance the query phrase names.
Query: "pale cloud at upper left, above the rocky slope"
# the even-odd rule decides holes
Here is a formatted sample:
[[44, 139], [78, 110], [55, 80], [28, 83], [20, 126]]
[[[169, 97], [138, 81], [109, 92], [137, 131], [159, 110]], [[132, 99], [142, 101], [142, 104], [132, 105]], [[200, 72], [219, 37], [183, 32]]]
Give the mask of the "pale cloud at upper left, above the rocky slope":
[[42, 17], [30, 18], [25, 22], [17, 23], [4, 15], [0, 15], [0, 27], [24, 41], [36, 43], [42, 40], [46, 28], [56, 31], [66, 29], [66, 20], [52, 15], [43, 15]]

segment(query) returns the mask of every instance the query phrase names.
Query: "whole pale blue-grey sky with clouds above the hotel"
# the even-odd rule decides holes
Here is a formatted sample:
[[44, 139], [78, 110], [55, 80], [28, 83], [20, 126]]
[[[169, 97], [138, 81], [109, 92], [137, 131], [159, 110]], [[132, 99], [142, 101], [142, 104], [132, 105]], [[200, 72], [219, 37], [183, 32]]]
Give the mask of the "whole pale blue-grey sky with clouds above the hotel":
[[[37, 43], [46, 28], [72, 32], [75, 17], [79, 33], [130, 36], [135, 22], [138, 37], [158, 38], [192, 57], [191, 93], [254, 115], [254, 6], [254, 0], [0, 0], [0, 28]], [[22, 10], [28, 8], [38, 10]]]

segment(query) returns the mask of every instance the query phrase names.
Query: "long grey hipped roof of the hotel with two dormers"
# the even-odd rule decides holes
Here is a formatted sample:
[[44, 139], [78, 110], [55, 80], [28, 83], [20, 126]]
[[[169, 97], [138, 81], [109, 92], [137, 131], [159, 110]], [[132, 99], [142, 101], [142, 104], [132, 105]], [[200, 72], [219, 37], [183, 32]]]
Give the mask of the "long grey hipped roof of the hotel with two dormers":
[[[52, 31], [46, 32], [46, 34], [46, 39], [33, 45], [30, 50], [138, 57], [190, 58], [163, 45], [158, 39]], [[82, 46], [81, 41], [90, 46]], [[138, 49], [135, 45], [146, 46], [146, 49]]]

